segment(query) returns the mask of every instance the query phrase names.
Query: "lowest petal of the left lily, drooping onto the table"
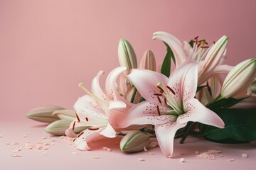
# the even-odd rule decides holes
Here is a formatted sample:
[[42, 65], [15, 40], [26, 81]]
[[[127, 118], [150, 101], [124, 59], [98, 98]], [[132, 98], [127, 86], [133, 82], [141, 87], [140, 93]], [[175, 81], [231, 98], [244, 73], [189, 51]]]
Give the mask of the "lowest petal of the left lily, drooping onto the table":
[[103, 128], [99, 128], [99, 129], [95, 129], [95, 130], [89, 130], [86, 129], [83, 132], [82, 135], [80, 135], [80, 137], [78, 137], [77, 139], [75, 139], [74, 143], [77, 147], [77, 149], [79, 150], [90, 150], [90, 147], [87, 145], [89, 142], [91, 142], [92, 140], [98, 140], [100, 138], [102, 138], [102, 135], [99, 134], [99, 132], [102, 131]]

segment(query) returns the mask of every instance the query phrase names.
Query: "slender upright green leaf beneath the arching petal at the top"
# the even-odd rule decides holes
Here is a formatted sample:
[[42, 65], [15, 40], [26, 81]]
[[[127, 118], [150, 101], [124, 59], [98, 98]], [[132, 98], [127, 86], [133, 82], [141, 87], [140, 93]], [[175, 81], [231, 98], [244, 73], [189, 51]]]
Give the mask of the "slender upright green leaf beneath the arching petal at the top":
[[161, 74], [164, 74], [166, 75], [166, 77], [169, 77], [171, 74], [171, 59], [174, 61], [174, 64], [176, 64], [176, 62], [174, 58], [174, 53], [171, 51], [171, 48], [169, 47], [168, 44], [166, 44], [166, 42], [164, 42], [164, 44], [166, 45], [167, 53], [166, 56], [164, 57], [163, 64], [161, 65]]

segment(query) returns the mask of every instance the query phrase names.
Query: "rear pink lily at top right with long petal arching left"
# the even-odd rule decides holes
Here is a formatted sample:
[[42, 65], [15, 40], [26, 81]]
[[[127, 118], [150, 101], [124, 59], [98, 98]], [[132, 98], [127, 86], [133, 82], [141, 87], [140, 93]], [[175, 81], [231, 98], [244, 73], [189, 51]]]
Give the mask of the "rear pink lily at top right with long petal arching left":
[[184, 41], [182, 44], [174, 35], [162, 31], [154, 33], [153, 39], [162, 40], [171, 47], [176, 67], [191, 59], [198, 62], [198, 85], [203, 84], [215, 74], [228, 73], [233, 68], [221, 64], [228, 45], [228, 37], [225, 35], [211, 46], [208, 46], [206, 40], [198, 40], [196, 37], [193, 47], [191, 47], [188, 42]]

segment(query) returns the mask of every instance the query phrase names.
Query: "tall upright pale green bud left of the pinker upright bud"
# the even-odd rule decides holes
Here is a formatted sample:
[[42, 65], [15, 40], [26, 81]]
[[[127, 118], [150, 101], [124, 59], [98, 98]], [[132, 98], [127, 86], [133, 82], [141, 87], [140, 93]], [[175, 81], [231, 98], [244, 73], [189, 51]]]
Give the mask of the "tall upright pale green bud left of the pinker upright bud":
[[118, 59], [120, 66], [127, 67], [128, 71], [137, 68], [137, 57], [129, 41], [121, 39], [118, 45]]

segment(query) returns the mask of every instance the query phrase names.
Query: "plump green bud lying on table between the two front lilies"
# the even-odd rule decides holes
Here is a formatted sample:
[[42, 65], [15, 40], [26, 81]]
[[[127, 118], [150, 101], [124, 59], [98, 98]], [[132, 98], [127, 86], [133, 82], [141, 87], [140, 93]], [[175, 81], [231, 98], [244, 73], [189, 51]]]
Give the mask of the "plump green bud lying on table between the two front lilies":
[[120, 142], [122, 152], [140, 152], [149, 145], [149, 135], [140, 130], [134, 130], [125, 135]]

